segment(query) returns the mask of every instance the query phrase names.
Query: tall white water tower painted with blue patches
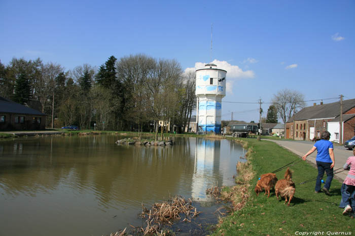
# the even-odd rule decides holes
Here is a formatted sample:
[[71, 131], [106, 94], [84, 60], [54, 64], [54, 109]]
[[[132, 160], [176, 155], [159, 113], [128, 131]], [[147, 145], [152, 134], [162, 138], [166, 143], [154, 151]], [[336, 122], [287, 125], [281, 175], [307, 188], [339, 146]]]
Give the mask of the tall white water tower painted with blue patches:
[[226, 96], [227, 71], [206, 64], [196, 70], [198, 132], [221, 132], [222, 99]]

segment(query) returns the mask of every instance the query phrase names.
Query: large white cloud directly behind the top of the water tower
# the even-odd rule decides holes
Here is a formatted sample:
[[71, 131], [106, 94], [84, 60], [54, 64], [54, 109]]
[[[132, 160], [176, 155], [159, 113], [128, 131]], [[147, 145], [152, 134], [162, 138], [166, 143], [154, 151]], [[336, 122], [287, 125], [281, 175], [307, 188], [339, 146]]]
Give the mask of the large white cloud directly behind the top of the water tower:
[[[211, 63], [216, 64], [218, 69], [226, 70], [227, 71], [227, 80], [226, 80], [226, 91], [227, 93], [233, 93], [233, 83], [236, 80], [240, 79], [249, 79], [254, 78], [255, 73], [252, 70], [242, 70], [239, 66], [231, 65], [226, 61], [218, 61], [214, 60]], [[185, 72], [191, 70], [198, 70], [205, 68], [204, 65], [207, 63], [205, 62], [196, 62], [195, 67], [193, 68], [186, 68]]]

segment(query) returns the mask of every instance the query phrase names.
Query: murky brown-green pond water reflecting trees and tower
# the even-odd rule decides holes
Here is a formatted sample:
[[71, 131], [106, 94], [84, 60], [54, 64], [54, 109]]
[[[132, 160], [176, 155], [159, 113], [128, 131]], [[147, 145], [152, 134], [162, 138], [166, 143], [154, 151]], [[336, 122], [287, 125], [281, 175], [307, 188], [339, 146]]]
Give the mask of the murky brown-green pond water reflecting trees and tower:
[[106, 235], [141, 226], [142, 203], [150, 208], [175, 195], [211, 201], [206, 189], [233, 185], [246, 152], [226, 139], [175, 138], [171, 147], [141, 147], [116, 145], [120, 138], [2, 141], [0, 235]]

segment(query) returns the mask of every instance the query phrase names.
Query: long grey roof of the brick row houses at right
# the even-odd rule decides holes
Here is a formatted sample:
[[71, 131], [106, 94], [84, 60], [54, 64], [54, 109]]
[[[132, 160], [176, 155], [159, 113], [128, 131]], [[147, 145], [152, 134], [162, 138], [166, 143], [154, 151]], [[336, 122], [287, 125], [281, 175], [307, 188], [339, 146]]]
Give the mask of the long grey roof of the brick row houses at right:
[[[343, 112], [355, 107], [355, 99], [343, 101]], [[301, 111], [297, 112], [287, 122], [293, 122], [294, 120], [312, 120], [322, 118], [335, 118], [340, 114], [340, 102], [328, 103], [323, 105], [315, 105], [311, 107], [305, 107]]]

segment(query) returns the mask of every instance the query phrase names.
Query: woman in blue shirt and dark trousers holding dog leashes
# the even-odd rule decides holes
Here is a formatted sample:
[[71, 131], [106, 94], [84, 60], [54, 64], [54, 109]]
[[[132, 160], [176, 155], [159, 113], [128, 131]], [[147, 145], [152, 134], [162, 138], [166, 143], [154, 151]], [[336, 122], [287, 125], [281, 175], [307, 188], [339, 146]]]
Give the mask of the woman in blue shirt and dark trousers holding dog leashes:
[[318, 168], [318, 176], [315, 181], [315, 193], [319, 193], [321, 191], [321, 181], [324, 175], [324, 171], [327, 173], [326, 184], [322, 188], [322, 190], [327, 194], [329, 193], [330, 184], [333, 179], [333, 167], [334, 167], [334, 152], [333, 152], [333, 143], [329, 141], [330, 132], [323, 131], [321, 135], [321, 140], [316, 141], [311, 150], [308, 151], [306, 155], [302, 157], [305, 161], [307, 156], [312, 154], [315, 150], [317, 150], [317, 157], [315, 161], [317, 163]]

